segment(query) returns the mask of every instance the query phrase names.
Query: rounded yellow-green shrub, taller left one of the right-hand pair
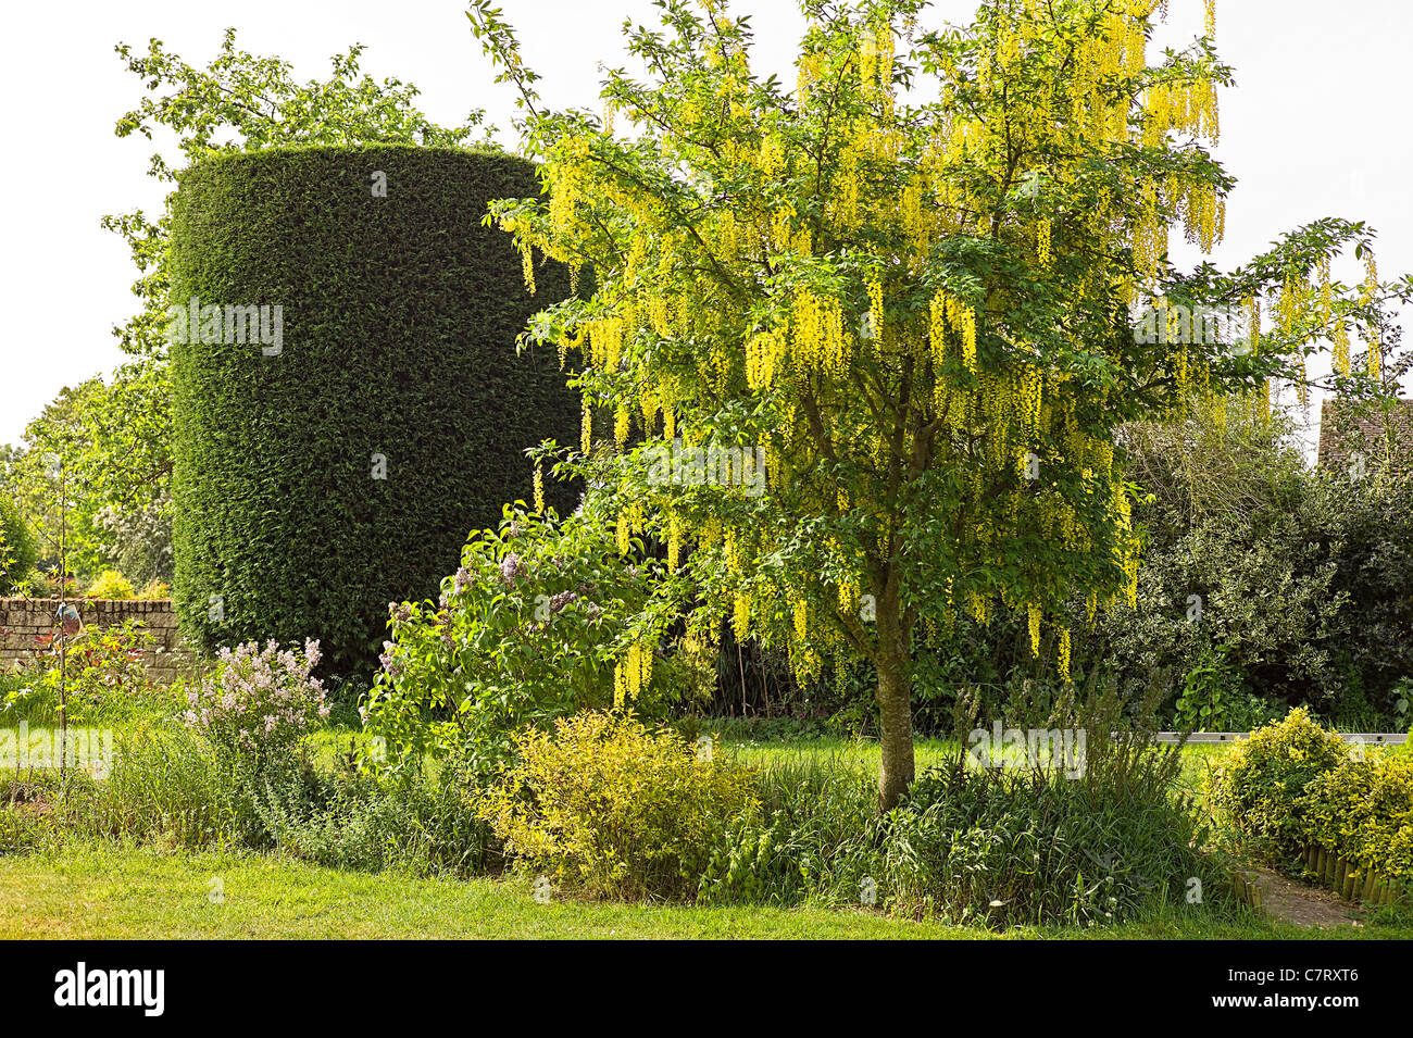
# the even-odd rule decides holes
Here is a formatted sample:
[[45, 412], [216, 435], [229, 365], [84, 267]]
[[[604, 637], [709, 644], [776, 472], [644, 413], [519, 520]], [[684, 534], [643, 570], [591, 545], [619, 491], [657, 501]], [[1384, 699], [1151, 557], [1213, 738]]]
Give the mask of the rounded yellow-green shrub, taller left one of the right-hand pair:
[[1208, 772], [1214, 811], [1258, 852], [1286, 859], [1301, 847], [1297, 804], [1306, 787], [1349, 758], [1349, 747], [1317, 724], [1306, 708], [1258, 729]]

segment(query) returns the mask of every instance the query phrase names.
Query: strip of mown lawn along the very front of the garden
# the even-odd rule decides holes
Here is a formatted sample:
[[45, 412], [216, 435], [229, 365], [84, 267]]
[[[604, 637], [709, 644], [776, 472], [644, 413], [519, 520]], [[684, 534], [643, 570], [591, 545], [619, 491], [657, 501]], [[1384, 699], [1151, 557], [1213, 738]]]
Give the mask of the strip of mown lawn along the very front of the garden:
[[[225, 900], [213, 902], [213, 880]], [[68, 845], [0, 857], [0, 939], [184, 938], [995, 938], [979, 928], [831, 908], [685, 908], [551, 901], [510, 880], [424, 880], [309, 866], [273, 854]], [[1318, 931], [1201, 907], [1121, 926], [1020, 928], [1009, 938], [1413, 938], [1413, 928]]]

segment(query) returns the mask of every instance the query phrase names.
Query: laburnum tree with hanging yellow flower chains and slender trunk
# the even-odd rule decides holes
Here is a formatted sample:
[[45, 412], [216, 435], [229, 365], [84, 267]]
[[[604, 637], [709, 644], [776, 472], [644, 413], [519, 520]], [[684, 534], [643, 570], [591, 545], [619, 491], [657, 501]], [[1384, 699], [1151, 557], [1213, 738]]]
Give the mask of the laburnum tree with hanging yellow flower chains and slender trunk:
[[[544, 160], [543, 196], [487, 219], [528, 281], [541, 254], [592, 275], [527, 332], [581, 364], [560, 463], [623, 552], [666, 545], [697, 637], [729, 620], [801, 679], [873, 662], [887, 809], [914, 774], [918, 645], [1015, 610], [1068, 678], [1072, 603], [1082, 624], [1133, 602], [1121, 429], [1263, 410], [1324, 349], [1331, 386], [1373, 394], [1410, 285], [1337, 219], [1235, 271], [1171, 264], [1174, 233], [1221, 239], [1234, 186], [1210, 153], [1232, 82], [1210, 3], [1201, 38], [1150, 55], [1153, 0], [988, 0], [934, 28], [920, 0], [804, 0], [793, 89], [752, 71], [749, 18], [657, 6], [658, 28], [625, 25], [646, 73], [552, 112], [472, 4]], [[1362, 285], [1330, 277], [1348, 249]]]

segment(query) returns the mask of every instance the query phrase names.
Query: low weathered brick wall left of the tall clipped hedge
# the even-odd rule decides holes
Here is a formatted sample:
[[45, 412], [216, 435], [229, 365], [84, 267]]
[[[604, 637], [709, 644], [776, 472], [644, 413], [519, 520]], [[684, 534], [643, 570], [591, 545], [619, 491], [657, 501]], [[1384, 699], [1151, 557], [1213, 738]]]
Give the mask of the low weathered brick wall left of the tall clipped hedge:
[[[110, 627], [127, 620], [144, 624], [154, 643], [144, 661], [154, 681], [167, 684], [191, 674], [192, 655], [177, 633], [170, 599], [75, 599], [71, 604], [79, 610], [85, 627]], [[28, 657], [35, 638], [57, 630], [58, 609], [59, 599], [0, 599], [0, 668], [13, 669]]]

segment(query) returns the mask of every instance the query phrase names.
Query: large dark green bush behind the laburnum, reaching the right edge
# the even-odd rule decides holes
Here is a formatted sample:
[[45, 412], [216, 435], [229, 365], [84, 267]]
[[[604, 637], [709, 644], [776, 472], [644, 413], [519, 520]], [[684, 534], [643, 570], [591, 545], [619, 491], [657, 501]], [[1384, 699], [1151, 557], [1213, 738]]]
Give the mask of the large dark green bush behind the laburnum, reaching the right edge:
[[1221, 651], [1263, 699], [1390, 723], [1393, 686], [1413, 671], [1413, 479], [1300, 475], [1263, 510], [1171, 535], [1145, 555], [1139, 609], [1101, 617], [1091, 661], [1183, 675]]

